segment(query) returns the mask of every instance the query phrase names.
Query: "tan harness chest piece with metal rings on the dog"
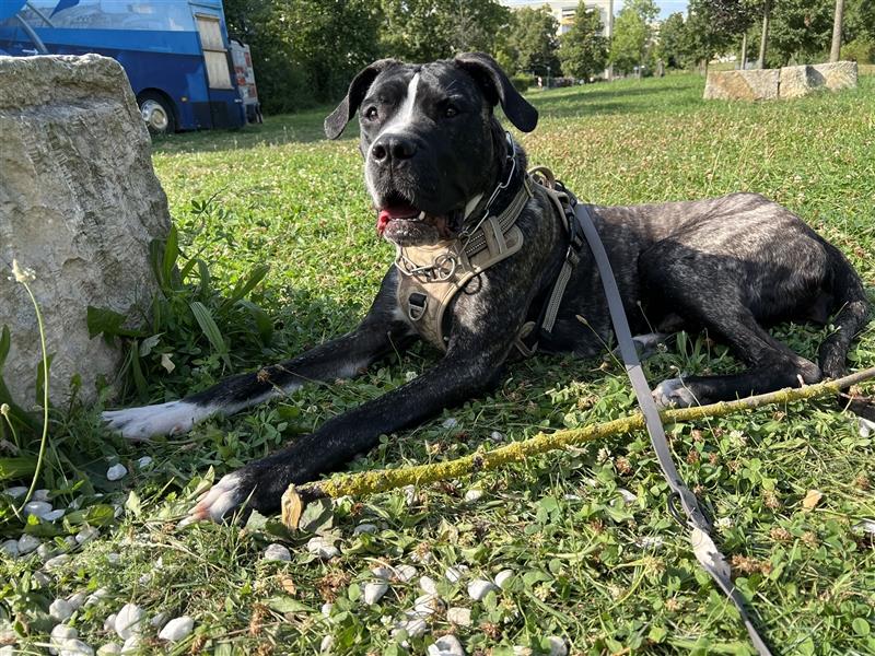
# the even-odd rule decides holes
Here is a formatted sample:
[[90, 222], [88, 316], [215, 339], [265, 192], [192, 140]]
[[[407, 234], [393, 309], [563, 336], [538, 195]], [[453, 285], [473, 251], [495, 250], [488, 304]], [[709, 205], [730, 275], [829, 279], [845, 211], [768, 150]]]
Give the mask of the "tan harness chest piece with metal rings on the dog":
[[398, 306], [420, 337], [446, 351], [446, 308], [475, 276], [523, 247], [516, 220], [533, 198], [528, 176], [511, 203], [498, 216], [487, 215], [467, 235], [431, 246], [398, 246], [395, 266]]

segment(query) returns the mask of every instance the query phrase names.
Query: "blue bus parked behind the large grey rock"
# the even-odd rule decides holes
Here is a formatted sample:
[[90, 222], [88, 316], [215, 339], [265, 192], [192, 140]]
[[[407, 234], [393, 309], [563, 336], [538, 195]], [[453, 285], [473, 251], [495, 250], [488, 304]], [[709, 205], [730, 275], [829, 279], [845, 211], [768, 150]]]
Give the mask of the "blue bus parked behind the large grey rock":
[[222, 0], [0, 0], [0, 55], [116, 59], [150, 131], [260, 122], [248, 46]]

